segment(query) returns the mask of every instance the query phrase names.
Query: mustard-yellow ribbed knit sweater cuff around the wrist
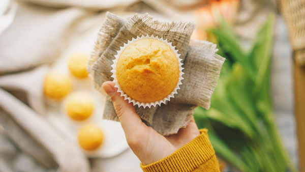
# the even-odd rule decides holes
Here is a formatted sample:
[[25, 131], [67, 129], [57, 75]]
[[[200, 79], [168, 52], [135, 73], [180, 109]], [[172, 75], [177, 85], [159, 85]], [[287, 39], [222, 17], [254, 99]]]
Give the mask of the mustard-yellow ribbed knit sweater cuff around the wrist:
[[142, 165], [144, 172], [150, 171], [220, 171], [219, 164], [207, 137], [207, 130], [173, 154], [148, 165]]

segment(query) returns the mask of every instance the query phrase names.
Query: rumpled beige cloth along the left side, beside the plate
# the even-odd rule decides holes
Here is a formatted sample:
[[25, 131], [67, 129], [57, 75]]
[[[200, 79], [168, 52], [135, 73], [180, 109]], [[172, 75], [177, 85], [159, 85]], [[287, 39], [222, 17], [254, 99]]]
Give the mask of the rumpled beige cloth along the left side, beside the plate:
[[[48, 67], [37, 66], [51, 64], [102, 17], [78, 8], [19, 4], [12, 25], [0, 35], [0, 125], [22, 152], [57, 171], [90, 169], [81, 150], [44, 118], [43, 81]], [[24, 103], [3, 89], [25, 95]], [[9, 157], [0, 158], [14, 165]]]

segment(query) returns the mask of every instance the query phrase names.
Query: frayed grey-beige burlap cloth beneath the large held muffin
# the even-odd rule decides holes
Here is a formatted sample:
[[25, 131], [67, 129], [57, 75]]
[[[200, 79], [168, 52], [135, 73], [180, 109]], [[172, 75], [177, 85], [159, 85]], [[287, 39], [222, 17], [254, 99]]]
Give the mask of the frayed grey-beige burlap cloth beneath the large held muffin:
[[[108, 12], [87, 65], [95, 89], [103, 93], [103, 82], [113, 80], [110, 65], [116, 51], [128, 40], [141, 35], [167, 39], [176, 46], [178, 53], [181, 54], [180, 58], [183, 59], [185, 74], [181, 89], [166, 105], [152, 108], [135, 107], [142, 121], [160, 134], [177, 133], [181, 127], [186, 127], [189, 123], [196, 106], [209, 108], [210, 98], [225, 60], [216, 54], [215, 44], [207, 41], [190, 41], [193, 30], [194, 24], [190, 22], [160, 22], [153, 20], [148, 14], [136, 14], [125, 20]], [[103, 118], [118, 121], [109, 97]]]

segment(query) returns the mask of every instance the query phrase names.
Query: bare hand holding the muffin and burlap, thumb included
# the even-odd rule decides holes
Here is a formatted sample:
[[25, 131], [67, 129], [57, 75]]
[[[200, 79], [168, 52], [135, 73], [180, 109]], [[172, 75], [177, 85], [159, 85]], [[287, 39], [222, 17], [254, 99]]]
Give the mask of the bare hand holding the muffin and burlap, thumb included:
[[133, 104], [120, 97], [114, 85], [114, 82], [106, 81], [102, 88], [113, 102], [128, 145], [143, 165], [169, 156], [200, 134], [194, 118], [186, 128], [179, 129], [177, 134], [170, 136], [159, 134], [141, 121]]

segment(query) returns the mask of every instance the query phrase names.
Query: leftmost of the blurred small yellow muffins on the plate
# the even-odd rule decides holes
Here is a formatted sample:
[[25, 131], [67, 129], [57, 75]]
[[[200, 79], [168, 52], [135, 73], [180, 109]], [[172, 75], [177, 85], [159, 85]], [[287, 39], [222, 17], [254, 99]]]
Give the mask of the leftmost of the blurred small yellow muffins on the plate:
[[65, 97], [72, 89], [70, 78], [57, 73], [50, 72], [44, 81], [44, 94], [53, 100], [60, 100]]

